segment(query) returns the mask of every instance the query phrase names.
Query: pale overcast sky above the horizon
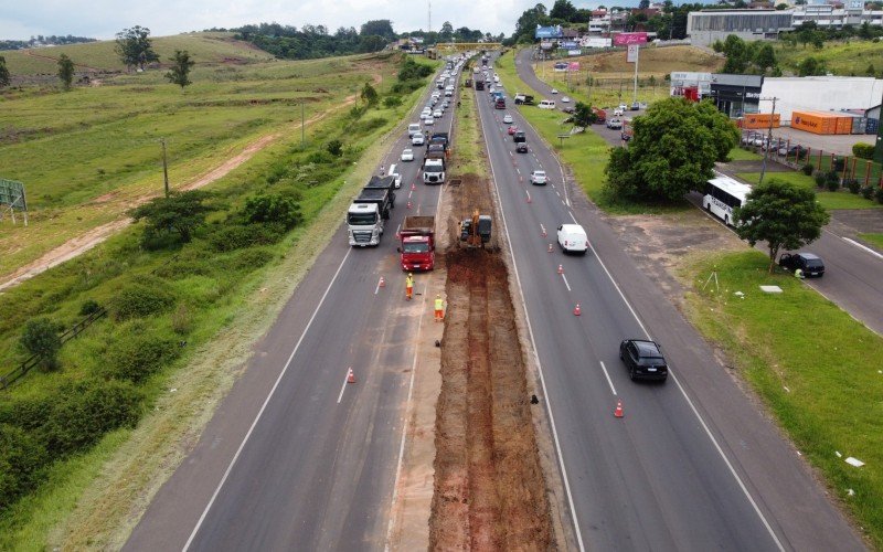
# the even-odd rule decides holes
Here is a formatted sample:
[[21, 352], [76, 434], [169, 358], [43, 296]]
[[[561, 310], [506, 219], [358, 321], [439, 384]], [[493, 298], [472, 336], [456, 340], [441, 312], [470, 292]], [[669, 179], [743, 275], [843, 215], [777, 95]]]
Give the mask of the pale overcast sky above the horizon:
[[[432, 0], [433, 29], [450, 21], [492, 34], [512, 34], [521, 13], [538, 0]], [[427, 26], [427, 0], [0, 0], [0, 39], [32, 35], [113, 39], [123, 29], [141, 25], [164, 36], [211, 28], [277, 22], [300, 28], [355, 26], [389, 19], [396, 32]], [[545, 2], [552, 8], [554, 0]], [[588, 2], [574, 1], [578, 8]], [[594, 2], [594, 4], [603, 3]], [[621, 2], [620, 2], [621, 3]]]

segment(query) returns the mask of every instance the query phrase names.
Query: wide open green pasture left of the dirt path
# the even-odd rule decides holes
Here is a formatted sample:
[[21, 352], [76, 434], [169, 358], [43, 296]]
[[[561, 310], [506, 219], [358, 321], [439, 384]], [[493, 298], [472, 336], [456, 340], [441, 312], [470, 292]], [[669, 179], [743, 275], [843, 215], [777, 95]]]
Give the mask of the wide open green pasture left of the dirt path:
[[[238, 43], [223, 50], [221, 39], [171, 39], [208, 42], [206, 49], [217, 49], [215, 61], [242, 51]], [[344, 107], [344, 98], [365, 82], [382, 79], [377, 87], [389, 89], [392, 77], [390, 65], [376, 56], [255, 60], [198, 64], [194, 84], [184, 91], [163, 84], [161, 71], [148, 71], [70, 93], [36, 86], [6, 92], [0, 177], [24, 182], [32, 224], [2, 223], [0, 276], [160, 191], [160, 138], [167, 139], [170, 183], [177, 188], [263, 136], [299, 134], [301, 105], [310, 119]]]

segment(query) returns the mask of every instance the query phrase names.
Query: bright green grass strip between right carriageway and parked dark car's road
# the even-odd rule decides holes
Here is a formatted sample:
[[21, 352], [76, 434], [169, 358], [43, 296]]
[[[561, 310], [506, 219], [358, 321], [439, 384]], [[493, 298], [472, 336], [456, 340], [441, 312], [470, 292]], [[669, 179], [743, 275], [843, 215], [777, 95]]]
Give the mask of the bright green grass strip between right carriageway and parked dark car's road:
[[[759, 252], [745, 252], [684, 267], [688, 316], [726, 351], [831, 492], [883, 546], [883, 375], [876, 361], [883, 339], [788, 274], [767, 274], [768, 263]], [[702, 290], [713, 270], [720, 294]], [[783, 294], [762, 293], [766, 284]], [[853, 468], [847, 456], [866, 465]]]

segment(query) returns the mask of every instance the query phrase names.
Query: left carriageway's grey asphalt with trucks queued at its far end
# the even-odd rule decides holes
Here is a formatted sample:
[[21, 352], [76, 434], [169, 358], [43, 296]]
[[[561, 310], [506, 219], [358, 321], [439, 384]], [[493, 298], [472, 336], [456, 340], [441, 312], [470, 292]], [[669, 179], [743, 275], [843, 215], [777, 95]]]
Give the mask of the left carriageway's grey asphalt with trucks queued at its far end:
[[[429, 130], [450, 128], [454, 105]], [[405, 134], [384, 160], [398, 163], [403, 184], [380, 246], [351, 248], [345, 224], [338, 229], [126, 550], [384, 548], [419, 317], [429, 308], [418, 274], [422, 295], [404, 300], [395, 234], [405, 215], [434, 214], [442, 193], [412, 190], [424, 148], [401, 162]], [[355, 384], [345, 383], [350, 367]]]

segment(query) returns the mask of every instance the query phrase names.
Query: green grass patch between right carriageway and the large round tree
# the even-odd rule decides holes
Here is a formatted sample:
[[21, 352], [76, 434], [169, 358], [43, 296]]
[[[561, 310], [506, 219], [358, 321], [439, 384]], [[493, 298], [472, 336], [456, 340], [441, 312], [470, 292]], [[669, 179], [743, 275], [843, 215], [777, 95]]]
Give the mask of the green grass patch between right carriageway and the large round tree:
[[[497, 60], [496, 72], [510, 94], [531, 89], [518, 77], [512, 64], [512, 53], [507, 53]], [[564, 123], [565, 116], [561, 112], [540, 109], [535, 106], [520, 105], [515, 107], [555, 150], [561, 160], [573, 169], [574, 178], [579, 187], [600, 209], [618, 214], [671, 213], [691, 209], [685, 201], [683, 205], [675, 206], [623, 204], [610, 201], [604, 193], [606, 180], [604, 168], [610, 151], [610, 146], [604, 138], [592, 129], [587, 129], [585, 132], [561, 140], [557, 136], [568, 134], [573, 127], [572, 124]]]

